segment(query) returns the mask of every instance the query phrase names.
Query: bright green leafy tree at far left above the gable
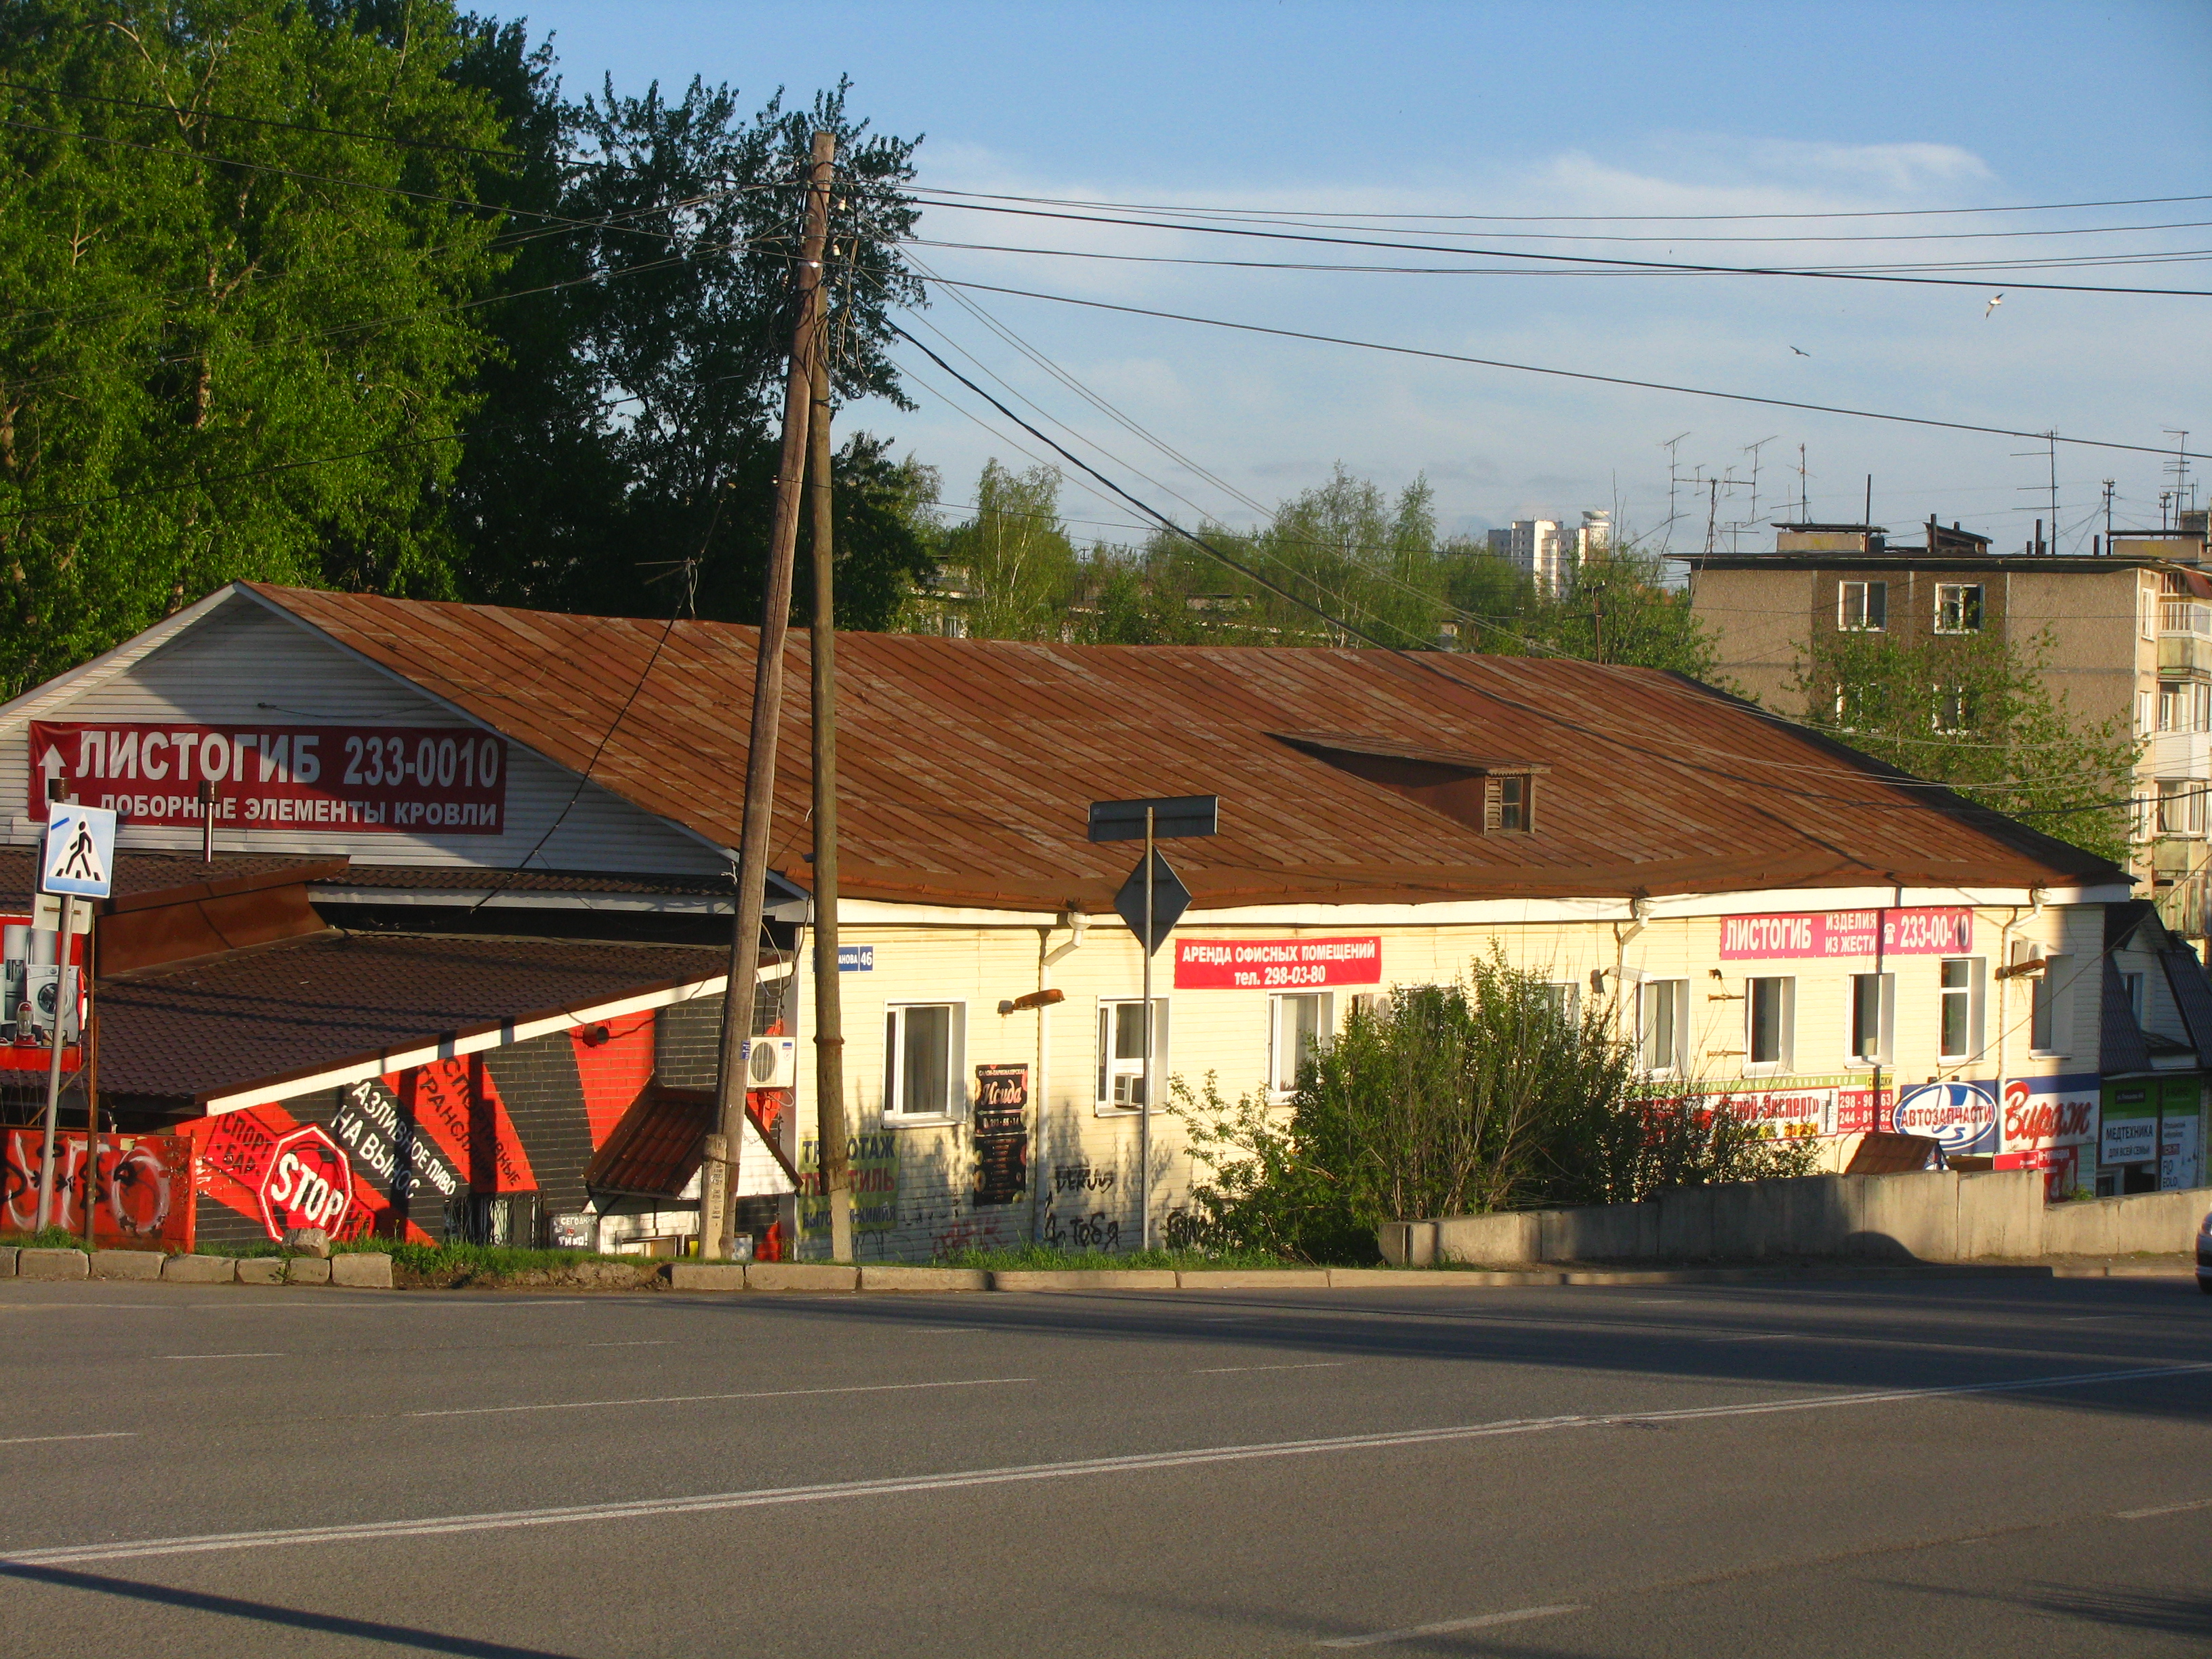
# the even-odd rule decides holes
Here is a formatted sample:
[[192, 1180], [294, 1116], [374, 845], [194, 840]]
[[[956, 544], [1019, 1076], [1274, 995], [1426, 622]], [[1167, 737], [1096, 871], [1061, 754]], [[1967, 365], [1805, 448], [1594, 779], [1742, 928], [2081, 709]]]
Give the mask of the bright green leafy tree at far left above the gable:
[[38, 88], [0, 135], [9, 692], [237, 577], [451, 591], [504, 133], [447, 73], [447, 0], [409, 18], [394, 44], [281, 0], [0, 11]]

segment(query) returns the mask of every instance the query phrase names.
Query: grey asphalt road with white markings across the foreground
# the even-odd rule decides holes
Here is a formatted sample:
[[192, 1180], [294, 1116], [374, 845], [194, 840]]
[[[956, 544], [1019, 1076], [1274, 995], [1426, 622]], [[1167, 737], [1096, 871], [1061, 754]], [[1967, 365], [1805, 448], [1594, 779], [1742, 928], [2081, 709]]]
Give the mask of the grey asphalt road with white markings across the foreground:
[[2185, 1281], [0, 1281], [9, 1655], [2212, 1641]]

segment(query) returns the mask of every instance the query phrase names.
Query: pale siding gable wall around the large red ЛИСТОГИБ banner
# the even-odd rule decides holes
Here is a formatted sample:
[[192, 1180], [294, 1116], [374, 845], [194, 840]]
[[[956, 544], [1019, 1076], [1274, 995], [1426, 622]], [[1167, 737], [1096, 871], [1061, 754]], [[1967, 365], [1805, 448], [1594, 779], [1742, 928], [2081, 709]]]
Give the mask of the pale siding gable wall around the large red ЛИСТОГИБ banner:
[[[248, 597], [232, 597], [199, 626], [106, 677], [22, 714], [0, 730], [0, 821], [9, 841], [38, 841], [29, 816], [29, 719], [46, 721], [192, 721], [257, 730], [270, 726], [449, 726], [476, 730], [440, 703], [378, 672], [352, 653], [288, 622]], [[575, 790], [575, 774], [520, 743], [507, 745], [507, 812], [502, 834], [361, 832], [248, 827], [221, 823], [219, 852], [352, 854], [378, 865], [491, 865], [529, 858], [560, 821], [538, 869], [628, 869], [717, 874], [728, 860], [703, 843], [639, 812], [597, 785]], [[575, 796], [575, 805], [568, 801]], [[97, 801], [95, 801], [97, 803]], [[566, 816], [562, 812], [566, 810]], [[122, 847], [197, 852], [201, 832], [144, 830], [128, 823]]]

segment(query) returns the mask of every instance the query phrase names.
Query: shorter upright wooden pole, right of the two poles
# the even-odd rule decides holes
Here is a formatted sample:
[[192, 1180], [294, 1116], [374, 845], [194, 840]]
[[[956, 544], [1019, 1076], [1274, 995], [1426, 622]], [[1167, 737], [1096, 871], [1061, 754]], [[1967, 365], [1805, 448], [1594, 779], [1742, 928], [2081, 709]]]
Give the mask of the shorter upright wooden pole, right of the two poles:
[[[827, 334], [827, 307], [823, 323]], [[852, 1261], [845, 1130], [845, 1004], [836, 956], [836, 582], [830, 526], [830, 343], [814, 347], [807, 504], [814, 509], [814, 1144], [830, 1199], [830, 1256]]]

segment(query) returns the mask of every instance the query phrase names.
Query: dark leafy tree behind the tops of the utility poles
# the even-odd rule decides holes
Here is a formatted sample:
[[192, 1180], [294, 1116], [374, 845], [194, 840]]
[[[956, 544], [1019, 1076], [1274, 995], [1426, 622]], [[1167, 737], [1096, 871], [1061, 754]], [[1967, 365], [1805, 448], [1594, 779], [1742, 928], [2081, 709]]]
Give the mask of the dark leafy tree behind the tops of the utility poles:
[[[757, 622], [765, 571], [792, 257], [814, 131], [838, 135], [830, 276], [832, 389], [911, 407], [887, 356], [891, 305], [922, 290], [896, 254], [914, 142], [872, 137], [847, 84], [745, 117], [730, 86], [657, 84], [564, 102], [520, 24], [478, 24], [456, 73], [526, 144], [518, 252], [484, 374], [484, 422], [456, 511], [471, 597], [599, 615], [664, 613], [695, 566], [699, 615]], [[887, 445], [847, 438], [838, 615], [885, 626], [929, 568]], [[845, 498], [852, 498], [849, 502]]]

